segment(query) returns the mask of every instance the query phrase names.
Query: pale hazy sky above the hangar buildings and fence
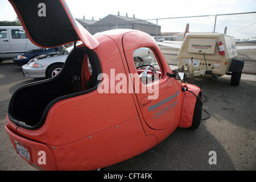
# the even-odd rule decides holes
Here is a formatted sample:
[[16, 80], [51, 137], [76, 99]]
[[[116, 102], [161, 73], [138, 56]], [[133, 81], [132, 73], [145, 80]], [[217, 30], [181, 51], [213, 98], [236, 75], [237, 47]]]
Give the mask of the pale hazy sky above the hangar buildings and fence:
[[[56, 1], [56, 0], [53, 0]], [[160, 0], [160, 1], [85, 1], [66, 0], [69, 9], [75, 18], [98, 20], [109, 14], [121, 15], [139, 19], [170, 18], [178, 16], [215, 15], [229, 13], [244, 13], [256, 11], [256, 0]], [[0, 21], [15, 20], [16, 14], [7, 0], [0, 0]], [[155, 20], [151, 21], [156, 23]], [[214, 16], [207, 18], [184, 18], [159, 20], [162, 32], [184, 32], [186, 23], [189, 23], [190, 32], [212, 32]], [[218, 16], [216, 32], [224, 32], [228, 27], [228, 35], [235, 38], [256, 37], [256, 13], [246, 15]], [[247, 27], [248, 26], [248, 27]], [[243, 28], [246, 27], [246, 28]], [[241, 30], [240, 30], [241, 29]]]

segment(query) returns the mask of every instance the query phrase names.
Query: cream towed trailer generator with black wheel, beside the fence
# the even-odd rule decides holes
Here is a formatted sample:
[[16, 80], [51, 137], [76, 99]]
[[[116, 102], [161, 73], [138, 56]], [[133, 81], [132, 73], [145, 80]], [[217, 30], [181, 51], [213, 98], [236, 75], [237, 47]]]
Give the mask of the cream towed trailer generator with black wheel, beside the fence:
[[238, 86], [244, 60], [237, 59], [232, 36], [218, 33], [188, 33], [178, 53], [178, 68], [187, 78], [232, 75], [230, 84]]

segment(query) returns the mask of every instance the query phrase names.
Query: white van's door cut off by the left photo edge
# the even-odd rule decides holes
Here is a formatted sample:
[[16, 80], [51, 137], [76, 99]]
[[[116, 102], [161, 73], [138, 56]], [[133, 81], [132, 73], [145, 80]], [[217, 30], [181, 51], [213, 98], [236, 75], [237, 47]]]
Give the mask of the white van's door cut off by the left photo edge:
[[[11, 52], [9, 32], [6, 28], [0, 29], [0, 53], [8, 53]], [[1, 57], [4, 57], [2, 55]]]

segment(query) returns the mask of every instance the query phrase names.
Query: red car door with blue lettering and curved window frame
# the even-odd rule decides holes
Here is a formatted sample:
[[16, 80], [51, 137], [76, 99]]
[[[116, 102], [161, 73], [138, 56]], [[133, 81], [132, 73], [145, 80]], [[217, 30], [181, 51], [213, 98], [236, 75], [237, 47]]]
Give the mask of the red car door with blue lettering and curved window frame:
[[[167, 73], [172, 73], [172, 71], [155, 40], [150, 35], [145, 36], [142, 32], [130, 32], [123, 36], [122, 41], [127, 65], [130, 73], [133, 74], [130, 75], [131, 78], [147, 69], [147, 66], [142, 70], [135, 68], [133, 55], [138, 48], [150, 49], [151, 65], [157, 69], [154, 81], [152, 78], [148, 82], [145, 82], [142, 77], [132, 78], [134, 92], [144, 121], [155, 130], [176, 128], [179, 124], [183, 100], [181, 86], [179, 81], [167, 76]], [[148, 72], [151, 75], [152, 71], [150, 67]]]

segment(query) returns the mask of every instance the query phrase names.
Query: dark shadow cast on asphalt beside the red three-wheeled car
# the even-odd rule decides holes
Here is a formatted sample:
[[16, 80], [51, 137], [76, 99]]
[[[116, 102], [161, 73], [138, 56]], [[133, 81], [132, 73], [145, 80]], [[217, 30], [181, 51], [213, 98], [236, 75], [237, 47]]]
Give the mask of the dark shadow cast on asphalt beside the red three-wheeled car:
[[[210, 151], [217, 153], [217, 165], [210, 165]], [[209, 133], [204, 123], [199, 129], [177, 129], [163, 142], [108, 170], [234, 170], [232, 160], [222, 145]]]

